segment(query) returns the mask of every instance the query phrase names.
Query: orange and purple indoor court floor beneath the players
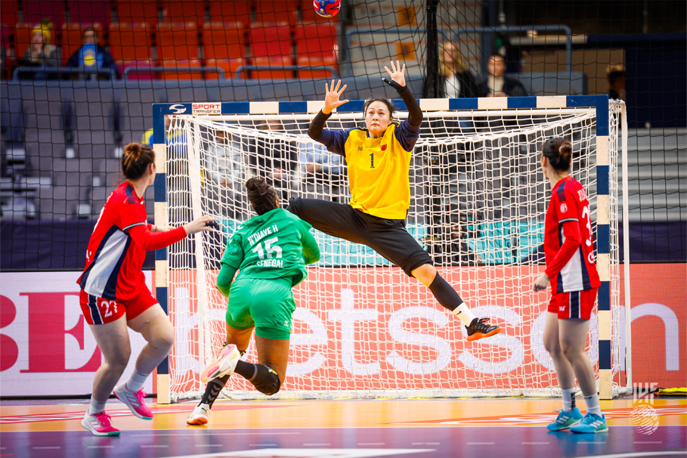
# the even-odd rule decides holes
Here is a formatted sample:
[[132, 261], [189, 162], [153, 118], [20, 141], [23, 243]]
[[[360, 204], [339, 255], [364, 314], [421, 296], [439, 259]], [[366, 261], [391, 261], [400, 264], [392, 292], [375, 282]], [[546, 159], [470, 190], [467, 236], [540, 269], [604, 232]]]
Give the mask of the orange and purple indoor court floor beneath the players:
[[[583, 401], [578, 401], [583, 409]], [[82, 428], [86, 402], [0, 402], [0, 457], [686, 457], [687, 400], [602, 401], [609, 431], [550, 433], [560, 400], [218, 401], [153, 404], [152, 421], [108, 402], [122, 434]]]

